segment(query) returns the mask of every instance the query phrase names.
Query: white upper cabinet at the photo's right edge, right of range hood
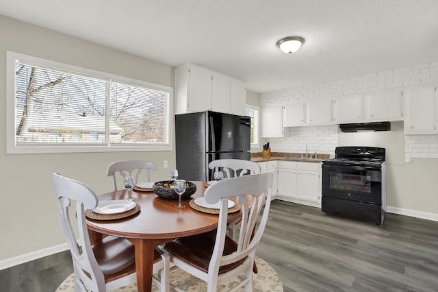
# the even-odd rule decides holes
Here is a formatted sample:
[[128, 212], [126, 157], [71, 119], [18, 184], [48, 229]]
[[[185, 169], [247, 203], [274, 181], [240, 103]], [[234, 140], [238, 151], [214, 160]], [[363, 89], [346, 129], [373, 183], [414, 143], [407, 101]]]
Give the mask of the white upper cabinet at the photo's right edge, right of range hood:
[[407, 118], [406, 134], [437, 134], [438, 102], [437, 86], [413, 86], [404, 90]]

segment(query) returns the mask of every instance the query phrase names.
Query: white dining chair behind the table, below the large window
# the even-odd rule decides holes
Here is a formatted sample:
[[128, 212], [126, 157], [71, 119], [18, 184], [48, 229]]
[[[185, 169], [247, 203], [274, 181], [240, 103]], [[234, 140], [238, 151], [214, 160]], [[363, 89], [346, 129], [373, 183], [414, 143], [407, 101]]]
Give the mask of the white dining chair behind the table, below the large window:
[[122, 175], [123, 178], [128, 175], [133, 176], [135, 186], [136, 184], [138, 184], [138, 178], [143, 170], [146, 172], [145, 182], [151, 182], [151, 171], [157, 170], [157, 165], [155, 165], [154, 162], [148, 160], [124, 160], [112, 162], [107, 167], [107, 176], [112, 177], [114, 191], [117, 191], [116, 173]]

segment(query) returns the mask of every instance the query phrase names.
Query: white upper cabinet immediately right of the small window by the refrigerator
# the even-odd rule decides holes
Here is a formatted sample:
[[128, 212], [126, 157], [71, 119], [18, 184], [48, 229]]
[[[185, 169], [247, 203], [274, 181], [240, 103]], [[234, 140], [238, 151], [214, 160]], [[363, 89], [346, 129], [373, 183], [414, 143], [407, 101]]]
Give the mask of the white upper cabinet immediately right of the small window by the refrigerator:
[[283, 107], [263, 107], [261, 109], [261, 137], [283, 137], [283, 133]]

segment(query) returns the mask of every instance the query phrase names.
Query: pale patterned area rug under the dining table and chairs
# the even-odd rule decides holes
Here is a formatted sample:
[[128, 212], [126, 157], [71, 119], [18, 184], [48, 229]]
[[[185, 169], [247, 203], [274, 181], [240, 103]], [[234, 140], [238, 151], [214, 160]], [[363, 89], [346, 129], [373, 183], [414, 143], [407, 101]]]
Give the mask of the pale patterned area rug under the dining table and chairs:
[[[253, 273], [253, 291], [265, 292], [265, 291], [283, 291], [283, 284], [276, 274], [274, 269], [261, 258], [256, 258], [258, 273]], [[233, 287], [238, 280], [229, 283], [226, 286], [220, 286], [219, 292], [228, 291], [230, 287]], [[181, 269], [175, 269], [170, 273], [170, 291], [175, 291], [172, 286], [177, 286], [184, 291], [207, 291], [207, 282], [199, 280], [198, 278], [191, 276], [189, 273], [182, 271]], [[237, 291], [244, 291], [244, 287]], [[75, 291], [75, 276], [72, 273], [57, 287], [56, 292], [73, 292]], [[129, 284], [124, 287], [112, 290], [114, 292], [135, 292], [137, 291], [137, 283]], [[159, 291], [157, 285], [153, 283], [152, 291]]]

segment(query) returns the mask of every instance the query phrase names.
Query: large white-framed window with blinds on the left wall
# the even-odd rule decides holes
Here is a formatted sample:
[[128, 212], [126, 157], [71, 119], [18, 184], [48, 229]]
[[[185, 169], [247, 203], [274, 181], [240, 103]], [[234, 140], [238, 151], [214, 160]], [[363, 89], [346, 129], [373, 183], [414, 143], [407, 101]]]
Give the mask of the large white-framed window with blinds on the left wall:
[[172, 88], [8, 52], [8, 153], [170, 149]]

